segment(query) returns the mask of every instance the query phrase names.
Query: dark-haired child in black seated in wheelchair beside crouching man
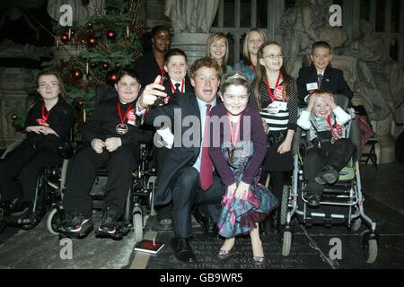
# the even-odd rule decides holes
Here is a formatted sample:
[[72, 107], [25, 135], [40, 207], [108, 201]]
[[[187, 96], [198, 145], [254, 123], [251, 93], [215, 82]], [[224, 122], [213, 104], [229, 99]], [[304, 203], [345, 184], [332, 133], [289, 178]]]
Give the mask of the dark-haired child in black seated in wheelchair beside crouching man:
[[139, 159], [139, 140], [143, 132], [136, 125], [134, 104], [140, 90], [135, 71], [119, 71], [115, 89], [118, 96], [102, 100], [83, 128], [83, 145], [77, 150], [67, 170], [63, 198], [66, 221], [62, 232], [85, 236], [92, 230], [92, 196], [90, 191], [96, 172], [106, 168], [108, 181], [103, 198], [101, 235], [117, 233], [119, 218], [132, 186], [133, 170]]

